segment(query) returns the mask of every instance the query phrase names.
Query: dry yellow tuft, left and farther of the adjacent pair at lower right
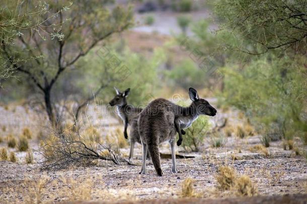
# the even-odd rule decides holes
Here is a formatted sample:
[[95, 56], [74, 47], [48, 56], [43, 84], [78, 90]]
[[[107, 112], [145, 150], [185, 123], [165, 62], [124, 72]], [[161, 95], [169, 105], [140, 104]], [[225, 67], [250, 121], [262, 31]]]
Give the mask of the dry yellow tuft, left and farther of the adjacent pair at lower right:
[[229, 166], [220, 166], [216, 176], [219, 188], [222, 190], [230, 189], [235, 184], [236, 177], [235, 169]]

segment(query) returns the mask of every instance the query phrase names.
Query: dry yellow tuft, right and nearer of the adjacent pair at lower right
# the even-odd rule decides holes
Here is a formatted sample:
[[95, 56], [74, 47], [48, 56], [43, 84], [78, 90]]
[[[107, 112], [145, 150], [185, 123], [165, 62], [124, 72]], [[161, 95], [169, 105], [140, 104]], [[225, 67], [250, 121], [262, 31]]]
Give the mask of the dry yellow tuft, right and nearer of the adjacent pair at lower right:
[[235, 190], [238, 195], [254, 196], [257, 194], [257, 187], [251, 181], [249, 176], [243, 175], [236, 179]]

